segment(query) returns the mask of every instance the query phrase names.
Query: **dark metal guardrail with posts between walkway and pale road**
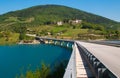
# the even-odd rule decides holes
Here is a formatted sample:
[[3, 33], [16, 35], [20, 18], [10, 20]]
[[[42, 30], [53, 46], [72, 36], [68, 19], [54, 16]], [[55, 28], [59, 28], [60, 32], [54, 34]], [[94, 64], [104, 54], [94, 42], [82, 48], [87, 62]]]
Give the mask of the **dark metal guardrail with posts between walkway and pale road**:
[[89, 65], [92, 67], [96, 78], [117, 78], [101, 61], [99, 61], [99, 59], [97, 59], [85, 47], [78, 43], [77, 45], [82, 50], [85, 58], [88, 60]]

